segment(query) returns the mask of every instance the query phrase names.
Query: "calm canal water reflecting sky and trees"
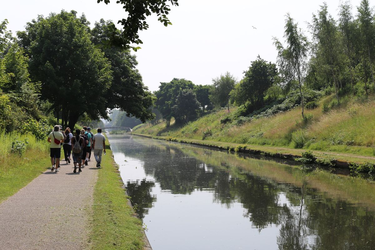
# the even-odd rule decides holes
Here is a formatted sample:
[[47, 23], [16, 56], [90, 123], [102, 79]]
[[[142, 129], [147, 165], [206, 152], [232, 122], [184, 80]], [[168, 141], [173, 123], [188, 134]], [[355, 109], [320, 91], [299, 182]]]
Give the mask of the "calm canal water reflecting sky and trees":
[[375, 185], [334, 169], [109, 135], [153, 250], [375, 249]]

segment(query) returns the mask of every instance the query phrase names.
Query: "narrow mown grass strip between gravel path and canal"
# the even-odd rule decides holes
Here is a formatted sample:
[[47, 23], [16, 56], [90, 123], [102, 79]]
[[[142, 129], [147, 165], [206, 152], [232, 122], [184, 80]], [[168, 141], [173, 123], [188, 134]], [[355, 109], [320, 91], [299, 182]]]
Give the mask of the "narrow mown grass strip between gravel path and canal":
[[108, 145], [94, 187], [92, 249], [141, 250], [144, 247], [142, 222], [127, 205], [123, 183]]

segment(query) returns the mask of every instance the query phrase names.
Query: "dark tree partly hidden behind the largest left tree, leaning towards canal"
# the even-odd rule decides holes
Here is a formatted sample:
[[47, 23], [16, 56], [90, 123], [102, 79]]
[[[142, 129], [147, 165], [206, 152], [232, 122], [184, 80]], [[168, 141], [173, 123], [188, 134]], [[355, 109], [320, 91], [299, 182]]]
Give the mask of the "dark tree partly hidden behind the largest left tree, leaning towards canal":
[[[108, 39], [111, 25], [113, 22], [104, 19], [95, 22], [91, 30], [94, 44]], [[135, 55], [131, 55], [129, 50], [117, 47], [102, 48], [102, 50], [111, 64], [112, 71], [112, 84], [104, 94], [106, 107], [125, 111], [127, 117], [135, 116], [142, 122], [152, 120], [154, 115], [150, 107], [153, 106], [154, 96], [143, 84], [142, 76], [135, 68], [138, 64]]]

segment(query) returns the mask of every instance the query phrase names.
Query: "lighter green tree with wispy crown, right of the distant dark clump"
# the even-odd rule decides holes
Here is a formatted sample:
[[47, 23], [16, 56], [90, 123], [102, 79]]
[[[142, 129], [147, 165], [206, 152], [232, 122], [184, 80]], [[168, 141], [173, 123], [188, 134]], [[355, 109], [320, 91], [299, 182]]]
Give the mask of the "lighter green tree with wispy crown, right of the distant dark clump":
[[234, 88], [236, 78], [231, 73], [226, 72], [225, 75], [220, 75], [212, 79], [213, 87], [210, 90], [210, 100], [221, 107], [228, 107], [229, 111], [229, 93]]

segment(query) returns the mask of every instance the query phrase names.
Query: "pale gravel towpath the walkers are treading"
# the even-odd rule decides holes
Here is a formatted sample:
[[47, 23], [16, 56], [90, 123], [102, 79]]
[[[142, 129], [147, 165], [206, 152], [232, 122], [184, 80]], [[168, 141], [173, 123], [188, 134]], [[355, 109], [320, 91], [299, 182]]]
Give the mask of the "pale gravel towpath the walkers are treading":
[[[92, 156], [93, 157], [93, 156]], [[98, 171], [89, 162], [73, 174], [73, 162], [39, 175], [0, 204], [1, 250], [88, 249], [89, 220]]]

